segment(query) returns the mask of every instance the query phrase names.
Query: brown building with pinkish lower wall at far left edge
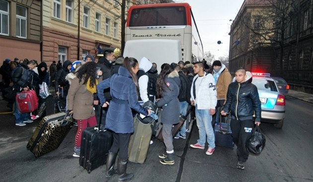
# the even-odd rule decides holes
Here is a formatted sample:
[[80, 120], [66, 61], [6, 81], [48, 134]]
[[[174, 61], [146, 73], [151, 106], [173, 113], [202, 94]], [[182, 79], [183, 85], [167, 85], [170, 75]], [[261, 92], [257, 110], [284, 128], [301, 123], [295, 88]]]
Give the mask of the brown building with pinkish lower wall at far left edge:
[[41, 0], [0, 0], [0, 60], [40, 60]]

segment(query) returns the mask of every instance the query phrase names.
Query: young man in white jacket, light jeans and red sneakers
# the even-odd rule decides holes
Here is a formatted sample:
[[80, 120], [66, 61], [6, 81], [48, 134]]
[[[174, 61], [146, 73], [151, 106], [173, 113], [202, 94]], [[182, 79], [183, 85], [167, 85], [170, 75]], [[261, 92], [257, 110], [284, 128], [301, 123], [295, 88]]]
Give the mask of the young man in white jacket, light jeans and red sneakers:
[[217, 104], [217, 92], [215, 80], [211, 73], [204, 71], [203, 62], [196, 62], [193, 71], [197, 74], [191, 85], [191, 105], [196, 107], [196, 121], [199, 128], [199, 139], [196, 144], [191, 144], [192, 148], [204, 149], [207, 138], [209, 148], [207, 155], [212, 155], [215, 148], [214, 130], [211, 124], [212, 115], [215, 114]]

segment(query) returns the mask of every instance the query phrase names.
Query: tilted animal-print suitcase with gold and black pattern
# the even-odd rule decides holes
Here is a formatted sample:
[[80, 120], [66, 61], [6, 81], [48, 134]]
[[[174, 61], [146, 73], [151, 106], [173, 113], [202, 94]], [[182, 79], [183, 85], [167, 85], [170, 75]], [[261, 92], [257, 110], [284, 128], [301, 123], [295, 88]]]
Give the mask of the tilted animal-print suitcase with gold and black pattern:
[[73, 126], [72, 115], [58, 113], [44, 117], [36, 127], [26, 148], [36, 157], [59, 147]]

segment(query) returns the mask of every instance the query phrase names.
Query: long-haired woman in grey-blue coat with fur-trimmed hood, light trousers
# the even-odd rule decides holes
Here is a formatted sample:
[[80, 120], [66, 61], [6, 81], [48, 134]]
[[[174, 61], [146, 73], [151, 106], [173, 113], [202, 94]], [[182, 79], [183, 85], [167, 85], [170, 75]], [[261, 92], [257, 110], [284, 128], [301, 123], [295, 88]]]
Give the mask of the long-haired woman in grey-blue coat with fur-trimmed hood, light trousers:
[[161, 72], [157, 79], [157, 95], [161, 98], [157, 101], [157, 107], [162, 107], [161, 114], [162, 137], [166, 147], [166, 152], [158, 157], [163, 165], [174, 164], [174, 146], [172, 136], [172, 126], [179, 121], [179, 85], [180, 79], [177, 71], [172, 71], [168, 63], [161, 66]]

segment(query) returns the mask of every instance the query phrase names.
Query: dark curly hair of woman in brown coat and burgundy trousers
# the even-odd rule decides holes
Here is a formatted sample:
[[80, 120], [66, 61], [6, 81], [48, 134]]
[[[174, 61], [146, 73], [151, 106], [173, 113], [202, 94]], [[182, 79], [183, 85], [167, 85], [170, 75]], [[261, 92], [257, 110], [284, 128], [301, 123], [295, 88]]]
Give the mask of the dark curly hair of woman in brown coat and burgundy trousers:
[[90, 78], [89, 86], [93, 88], [95, 86], [96, 70], [97, 70], [97, 63], [95, 63], [94, 61], [86, 62], [82, 64], [79, 67], [78, 71], [76, 72], [79, 83], [81, 82], [81, 79], [83, 78], [82, 84], [84, 85], [87, 83], [88, 78]]

